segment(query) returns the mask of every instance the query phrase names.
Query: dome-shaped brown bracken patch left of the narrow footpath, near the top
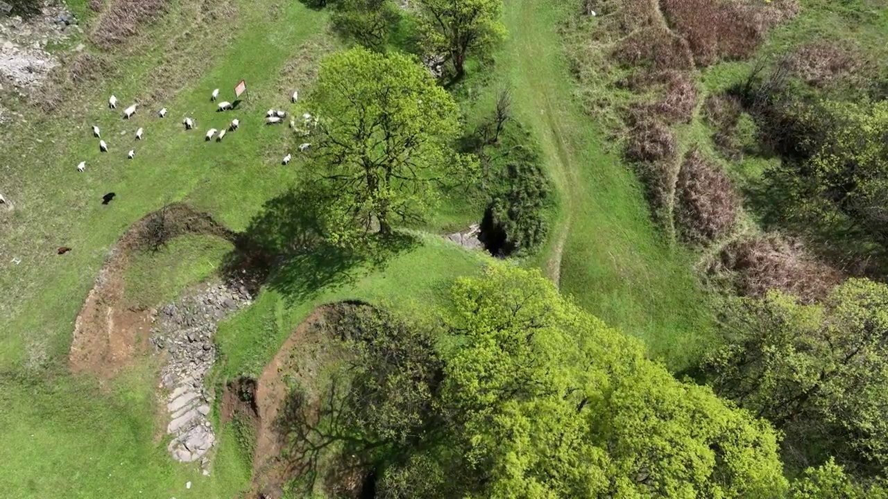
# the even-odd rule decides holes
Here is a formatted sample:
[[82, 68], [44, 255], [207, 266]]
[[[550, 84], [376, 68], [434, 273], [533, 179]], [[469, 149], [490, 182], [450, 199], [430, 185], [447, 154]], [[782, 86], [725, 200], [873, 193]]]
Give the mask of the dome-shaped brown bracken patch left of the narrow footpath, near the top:
[[614, 58], [623, 65], [644, 66], [652, 71], [694, 67], [694, 54], [685, 39], [662, 26], [626, 36], [614, 51]]

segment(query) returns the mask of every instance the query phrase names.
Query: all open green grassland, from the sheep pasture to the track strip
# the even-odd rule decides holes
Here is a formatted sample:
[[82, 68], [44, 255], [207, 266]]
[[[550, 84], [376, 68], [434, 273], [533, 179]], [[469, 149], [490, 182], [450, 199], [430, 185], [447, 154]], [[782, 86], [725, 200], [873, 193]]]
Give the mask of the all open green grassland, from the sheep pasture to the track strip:
[[[75, 9], [84, 12], [82, 19], [84, 4]], [[157, 366], [150, 358], [101, 383], [66, 371], [83, 297], [108, 250], [134, 221], [167, 203], [188, 202], [242, 230], [266, 200], [305, 176], [306, 165], [298, 161], [279, 164], [289, 140], [286, 125], [262, 123], [269, 107], [308, 110], [303, 102], [289, 104], [288, 76], [309, 72], [317, 62], [314, 51], [337, 44], [326, 32], [327, 13], [271, 0], [236, 0], [226, 9], [210, 22], [187, 0], [173, 2], [162, 20], [112, 54], [116, 75], [78, 87], [61, 117], [43, 118], [21, 105], [28, 123], [0, 135], [3, 188], [15, 193], [16, 203], [11, 216], [0, 218], [4, 496], [183, 499], [231, 497], [249, 486], [250, 456], [232, 427], [219, 432], [210, 477], [170, 460], [159, 436], [163, 429], [155, 428]], [[566, 6], [548, 0], [506, 4], [510, 35], [470, 112], [488, 109], [496, 89], [510, 87], [517, 115], [540, 142], [558, 187], [550, 242], [524, 263], [557, 276], [562, 291], [583, 307], [644, 339], [671, 368], [683, 368], [710, 336], [706, 294], [691, 255], [662, 237], [631, 170], [607, 152], [604, 131], [578, 105], [556, 29], [566, 15]], [[249, 98], [232, 112], [216, 113], [210, 91], [218, 87], [221, 100], [234, 100], [240, 79], [248, 83]], [[111, 93], [121, 101], [115, 113], [106, 108]], [[137, 98], [139, 112], [123, 121], [119, 112]], [[155, 115], [160, 107], [170, 111], [164, 119]], [[184, 131], [186, 115], [195, 118], [196, 130]], [[241, 120], [239, 131], [221, 144], [204, 142], [205, 131], [234, 117]], [[92, 124], [101, 128], [109, 153], [99, 153]], [[145, 139], [136, 142], [139, 127]], [[131, 148], [136, 157], [128, 161]], [[87, 162], [83, 174], [75, 170], [81, 161]], [[108, 192], [117, 197], [103, 206]], [[431, 226], [471, 221], [470, 212], [456, 207], [437, 214]], [[416, 249], [385, 268], [350, 269], [316, 288], [299, 286], [307, 278], [298, 262], [279, 269], [279, 285], [220, 325], [218, 379], [257, 375], [322, 303], [363, 299], [403, 313], [439, 311], [452, 280], [478, 272], [486, 257], [432, 235], [417, 237]], [[73, 251], [59, 257], [59, 246]], [[162, 305], [209, 278], [228, 249], [224, 242], [187, 236], [156, 255], [138, 255], [126, 277], [128, 297]], [[10, 264], [13, 257], [22, 263]], [[186, 481], [194, 487], [186, 490]]]

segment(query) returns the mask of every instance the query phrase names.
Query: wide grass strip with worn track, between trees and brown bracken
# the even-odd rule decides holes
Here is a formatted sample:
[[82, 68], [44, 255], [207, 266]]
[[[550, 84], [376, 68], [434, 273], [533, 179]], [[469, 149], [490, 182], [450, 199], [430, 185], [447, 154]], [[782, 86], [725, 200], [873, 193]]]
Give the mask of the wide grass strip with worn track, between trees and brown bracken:
[[506, 3], [509, 38], [497, 58], [561, 199], [546, 259], [536, 264], [580, 305], [682, 368], [709, 335], [709, 306], [690, 256], [663, 240], [634, 174], [607, 152], [604, 134], [575, 99], [558, 33], [570, 8]]

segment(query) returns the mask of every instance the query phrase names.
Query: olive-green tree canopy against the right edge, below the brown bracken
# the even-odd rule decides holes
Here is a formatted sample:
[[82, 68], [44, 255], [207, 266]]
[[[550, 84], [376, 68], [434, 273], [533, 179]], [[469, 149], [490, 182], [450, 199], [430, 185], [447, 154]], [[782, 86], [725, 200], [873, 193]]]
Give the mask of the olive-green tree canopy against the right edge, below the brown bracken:
[[886, 311], [888, 287], [868, 280], [845, 282], [822, 305], [776, 291], [741, 299], [705, 369], [720, 395], [787, 433], [788, 456], [834, 454], [872, 475], [888, 459]]

